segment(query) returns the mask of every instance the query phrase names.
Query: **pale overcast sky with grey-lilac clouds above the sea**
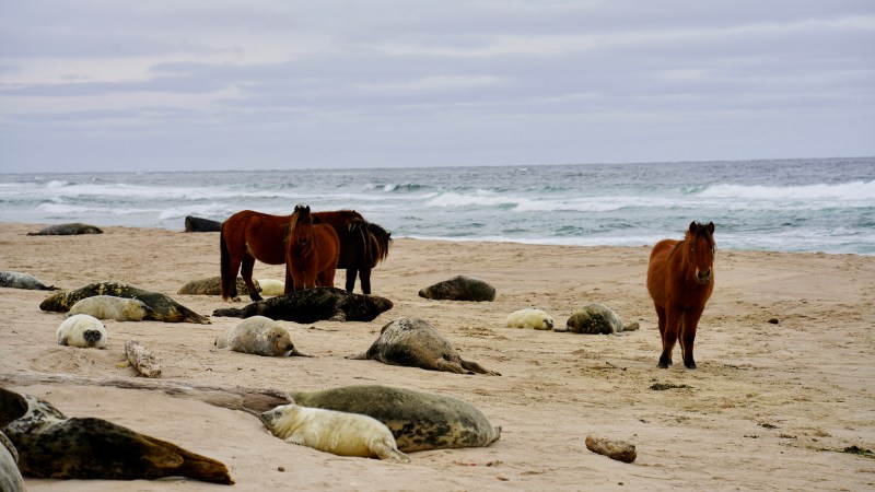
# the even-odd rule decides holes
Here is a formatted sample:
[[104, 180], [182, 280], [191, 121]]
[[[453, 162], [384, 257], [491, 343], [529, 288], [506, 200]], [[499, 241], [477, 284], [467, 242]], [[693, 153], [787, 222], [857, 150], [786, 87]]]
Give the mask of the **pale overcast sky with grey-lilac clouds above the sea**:
[[873, 0], [0, 0], [0, 172], [871, 155]]

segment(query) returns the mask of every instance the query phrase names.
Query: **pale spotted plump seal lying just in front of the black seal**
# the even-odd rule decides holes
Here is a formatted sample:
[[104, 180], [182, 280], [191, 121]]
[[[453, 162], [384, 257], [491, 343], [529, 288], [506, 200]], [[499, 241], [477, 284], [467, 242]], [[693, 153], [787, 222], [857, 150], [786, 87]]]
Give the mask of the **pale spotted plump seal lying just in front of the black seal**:
[[295, 349], [289, 331], [265, 316], [253, 316], [229, 328], [224, 335], [215, 339], [215, 347], [269, 358], [313, 356]]

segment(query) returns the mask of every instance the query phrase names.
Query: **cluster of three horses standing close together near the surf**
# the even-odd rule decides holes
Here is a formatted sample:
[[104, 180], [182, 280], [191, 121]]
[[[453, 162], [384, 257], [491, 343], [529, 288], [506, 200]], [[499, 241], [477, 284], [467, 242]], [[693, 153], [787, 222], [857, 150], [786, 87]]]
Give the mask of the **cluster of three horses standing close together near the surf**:
[[231, 215], [219, 234], [222, 298], [240, 300], [237, 273], [253, 301], [260, 301], [253, 268], [255, 260], [285, 265], [285, 293], [314, 286], [334, 286], [335, 270], [347, 270], [346, 288], [355, 277], [371, 293], [371, 270], [389, 251], [392, 233], [368, 222], [354, 210], [311, 212], [296, 206], [291, 215], [243, 210]]

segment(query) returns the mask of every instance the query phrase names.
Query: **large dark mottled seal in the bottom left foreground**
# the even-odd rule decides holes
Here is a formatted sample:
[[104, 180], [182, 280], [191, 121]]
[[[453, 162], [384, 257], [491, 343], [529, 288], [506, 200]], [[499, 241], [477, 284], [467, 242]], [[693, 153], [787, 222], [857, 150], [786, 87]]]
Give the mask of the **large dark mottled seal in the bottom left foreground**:
[[8, 414], [22, 414], [2, 431], [19, 452], [24, 476], [80, 480], [188, 477], [234, 483], [228, 468], [214, 459], [103, 419], [68, 419], [40, 398], [0, 388], [0, 415]]

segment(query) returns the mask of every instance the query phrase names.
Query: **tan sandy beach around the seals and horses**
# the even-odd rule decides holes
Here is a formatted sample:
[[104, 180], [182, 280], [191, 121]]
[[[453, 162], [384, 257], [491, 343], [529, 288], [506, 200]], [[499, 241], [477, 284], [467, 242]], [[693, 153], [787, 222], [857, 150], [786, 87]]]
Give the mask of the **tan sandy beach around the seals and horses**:
[[[105, 234], [27, 236], [44, 224], [0, 224], [0, 270], [75, 289], [118, 281], [173, 296], [202, 315], [219, 296], [179, 295], [219, 274], [219, 234], [104, 227]], [[680, 238], [684, 223], [666, 237]], [[715, 234], [720, 246], [720, 231]], [[71, 417], [100, 417], [224, 462], [237, 490], [872, 490], [875, 450], [875, 257], [719, 250], [715, 289], [696, 339], [698, 370], [656, 367], [661, 343], [644, 282], [652, 245], [533, 246], [395, 239], [372, 278], [395, 304], [371, 323], [281, 321], [315, 355], [261, 358], [218, 350], [240, 321], [106, 320], [107, 350], [57, 344], [49, 292], [0, 289], [0, 373], [133, 378], [124, 343], [137, 339], [162, 379], [316, 390], [382, 384], [469, 401], [503, 431], [489, 447], [410, 454], [407, 465], [339, 457], [270, 435], [257, 418], [156, 391], [21, 385]], [[420, 289], [456, 274], [495, 286], [494, 302], [431, 301]], [[256, 278], [282, 266], [256, 263]], [[343, 272], [335, 280], [342, 286]], [[359, 285], [357, 283], [357, 292]], [[591, 336], [505, 327], [538, 307], [558, 325], [598, 302], [641, 328]], [[244, 303], [237, 303], [242, 307]], [[429, 320], [465, 359], [501, 376], [459, 375], [346, 360], [400, 317]], [[770, 323], [777, 320], [778, 323]], [[652, 389], [655, 384], [675, 386]], [[632, 464], [586, 449], [587, 435], [637, 446]], [[282, 470], [282, 471], [281, 471]], [[221, 490], [186, 479], [26, 480], [28, 490]]]

